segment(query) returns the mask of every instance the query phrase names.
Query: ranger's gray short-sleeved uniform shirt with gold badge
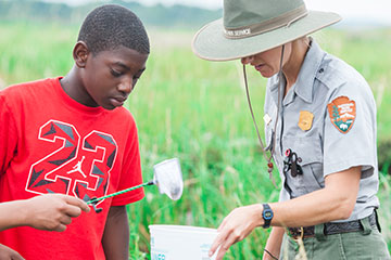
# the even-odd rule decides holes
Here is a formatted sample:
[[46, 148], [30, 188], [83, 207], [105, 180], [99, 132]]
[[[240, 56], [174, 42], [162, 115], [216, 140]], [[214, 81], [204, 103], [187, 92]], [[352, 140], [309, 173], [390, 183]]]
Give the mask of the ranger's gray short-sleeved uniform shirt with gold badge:
[[[274, 131], [277, 105], [278, 76], [275, 75], [267, 83], [264, 119], [266, 144], [268, 148], [275, 145], [274, 159], [281, 182], [289, 187], [282, 187], [280, 200], [323, 188], [328, 174], [362, 166], [353, 213], [348, 220], [337, 222], [369, 216], [379, 206], [376, 196], [379, 183], [376, 103], [366, 80], [313, 40], [297, 82], [281, 101]], [[301, 158], [303, 174], [283, 173], [288, 148]]]

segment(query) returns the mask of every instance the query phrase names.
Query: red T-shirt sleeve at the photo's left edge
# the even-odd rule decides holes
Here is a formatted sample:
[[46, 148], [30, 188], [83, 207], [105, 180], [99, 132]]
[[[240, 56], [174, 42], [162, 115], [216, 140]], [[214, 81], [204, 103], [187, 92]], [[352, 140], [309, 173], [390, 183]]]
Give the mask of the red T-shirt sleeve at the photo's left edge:
[[17, 134], [14, 118], [0, 92], [0, 176], [4, 174], [16, 151]]

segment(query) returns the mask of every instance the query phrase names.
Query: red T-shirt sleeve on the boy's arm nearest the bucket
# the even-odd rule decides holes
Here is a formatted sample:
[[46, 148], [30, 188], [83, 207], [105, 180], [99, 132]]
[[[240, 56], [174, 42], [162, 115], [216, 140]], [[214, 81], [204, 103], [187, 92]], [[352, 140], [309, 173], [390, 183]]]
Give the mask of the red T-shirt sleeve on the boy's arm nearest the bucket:
[[[136, 122], [131, 121], [129, 138], [125, 147], [124, 164], [122, 167], [118, 191], [133, 187], [142, 183], [139, 142]], [[143, 188], [115, 196], [112, 206], [123, 206], [136, 203], [144, 197]]]

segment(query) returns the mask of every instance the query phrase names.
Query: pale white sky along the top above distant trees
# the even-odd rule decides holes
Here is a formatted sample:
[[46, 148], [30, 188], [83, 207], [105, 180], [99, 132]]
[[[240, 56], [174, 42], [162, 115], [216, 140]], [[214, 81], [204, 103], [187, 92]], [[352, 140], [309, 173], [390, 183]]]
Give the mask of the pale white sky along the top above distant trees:
[[[50, 2], [66, 2], [80, 4], [91, 0], [46, 0]], [[136, 0], [143, 4], [163, 3], [186, 4], [206, 9], [223, 8], [223, 0]], [[104, 1], [102, 1], [104, 2]], [[310, 10], [337, 12], [346, 21], [355, 21], [365, 24], [366, 21], [391, 26], [391, 1], [390, 0], [306, 0]]]

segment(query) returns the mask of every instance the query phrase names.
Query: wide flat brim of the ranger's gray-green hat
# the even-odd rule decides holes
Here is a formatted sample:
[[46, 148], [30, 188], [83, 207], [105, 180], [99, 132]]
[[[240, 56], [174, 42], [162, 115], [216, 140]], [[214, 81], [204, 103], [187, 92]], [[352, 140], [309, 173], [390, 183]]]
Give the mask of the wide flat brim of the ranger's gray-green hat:
[[205, 25], [195, 34], [191, 48], [195, 55], [203, 60], [231, 61], [282, 46], [339, 21], [341, 16], [336, 13], [308, 11], [306, 16], [289, 27], [283, 26], [248, 38], [228, 39], [223, 32], [223, 18], [219, 18]]

